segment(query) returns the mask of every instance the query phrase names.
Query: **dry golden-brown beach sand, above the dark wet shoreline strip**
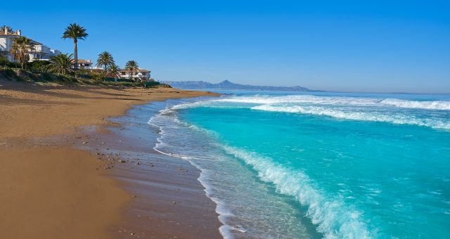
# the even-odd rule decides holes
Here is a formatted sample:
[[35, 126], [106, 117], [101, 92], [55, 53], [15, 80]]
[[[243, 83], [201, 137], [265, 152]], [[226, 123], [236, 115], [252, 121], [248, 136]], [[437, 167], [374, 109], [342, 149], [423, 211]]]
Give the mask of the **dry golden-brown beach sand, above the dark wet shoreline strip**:
[[[101, 160], [42, 137], [108, 124], [131, 105], [214, 96], [178, 89], [34, 86], [0, 80], [0, 238], [108, 238], [131, 196]], [[39, 138], [41, 143], [35, 143]]]

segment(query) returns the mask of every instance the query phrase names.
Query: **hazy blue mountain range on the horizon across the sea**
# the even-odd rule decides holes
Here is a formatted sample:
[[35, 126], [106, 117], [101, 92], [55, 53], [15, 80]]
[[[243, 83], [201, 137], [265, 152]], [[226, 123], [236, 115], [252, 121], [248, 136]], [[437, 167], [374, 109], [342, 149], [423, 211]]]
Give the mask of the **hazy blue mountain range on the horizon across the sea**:
[[161, 82], [179, 89], [234, 89], [249, 91], [314, 91], [302, 86], [251, 86], [248, 84], [235, 84], [229, 80], [214, 84], [203, 81]]

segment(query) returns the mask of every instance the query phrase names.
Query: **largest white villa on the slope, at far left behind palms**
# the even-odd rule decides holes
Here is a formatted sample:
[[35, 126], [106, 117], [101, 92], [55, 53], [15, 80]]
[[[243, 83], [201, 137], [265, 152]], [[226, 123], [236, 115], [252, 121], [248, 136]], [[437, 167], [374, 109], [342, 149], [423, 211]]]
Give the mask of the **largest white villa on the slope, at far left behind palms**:
[[[5, 29], [4, 32], [0, 32], [0, 55], [6, 56], [9, 61], [16, 61], [13, 54], [11, 54], [11, 46], [13, 46], [14, 39], [20, 37], [22, 32], [17, 30], [15, 32], [8, 32], [8, 29]], [[45, 46], [38, 41], [32, 40], [34, 44], [34, 50], [28, 55], [30, 56], [30, 62], [33, 60], [49, 60], [51, 56], [56, 56], [61, 52], [55, 49], [51, 49], [49, 46]]]

